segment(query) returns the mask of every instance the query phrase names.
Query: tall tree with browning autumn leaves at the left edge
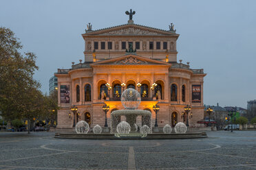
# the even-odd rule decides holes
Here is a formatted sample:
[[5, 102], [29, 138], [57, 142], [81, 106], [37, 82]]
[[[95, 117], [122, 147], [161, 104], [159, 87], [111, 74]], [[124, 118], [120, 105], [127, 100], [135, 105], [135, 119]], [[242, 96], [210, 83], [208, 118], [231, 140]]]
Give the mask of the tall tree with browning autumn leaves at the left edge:
[[0, 27], [0, 110], [6, 120], [21, 119], [27, 110], [26, 93], [40, 86], [33, 79], [36, 56], [29, 52], [23, 56], [21, 49], [14, 33]]

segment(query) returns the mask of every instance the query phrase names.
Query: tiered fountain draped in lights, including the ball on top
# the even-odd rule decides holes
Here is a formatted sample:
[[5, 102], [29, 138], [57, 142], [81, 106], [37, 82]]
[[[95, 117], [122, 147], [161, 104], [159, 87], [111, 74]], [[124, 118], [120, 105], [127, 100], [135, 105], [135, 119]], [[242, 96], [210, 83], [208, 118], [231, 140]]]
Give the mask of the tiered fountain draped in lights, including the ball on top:
[[[115, 110], [114, 112], [111, 112], [110, 133], [116, 134], [118, 131], [120, 131], [121, 127], [127, 128], [125, 127], [125, 123], [130, 126], [130, 130], [128, 132], [129, 134], [138, 134], [138, 127], [143, 127], [143, 125], [147, 125], [147, 127], [150, 129], [147, 130], [147, 132], [151, 133], [151, 112], [147, 110], [137, 110], [141, 101], [140, 93], [138, 93], [138, 91], [134, 88], [127, 88], [121, 95], [121, 101], [122, 106], [125, 107], [125, 110]], [[123, 123], [124, 121], [122, 119], [125, 119], [125, 123]], [[122, 123], [122, 126], [119, 125], [120, 123]], [[140, 123], [141, 126], [138, 125]]]

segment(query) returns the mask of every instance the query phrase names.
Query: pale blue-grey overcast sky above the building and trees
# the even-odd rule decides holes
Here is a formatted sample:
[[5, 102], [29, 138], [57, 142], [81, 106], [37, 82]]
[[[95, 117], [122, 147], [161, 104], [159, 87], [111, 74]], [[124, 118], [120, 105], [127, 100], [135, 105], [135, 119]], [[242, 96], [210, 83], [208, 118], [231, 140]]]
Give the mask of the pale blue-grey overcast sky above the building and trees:
[[241, 106], [256, 99], [256, 1], [12, 1], [0, 0], [0, 27], [20, 38], [24, 51], [36, 54], [34, 78], [49, 93], [57, 69], [84, 60], [81, 36], [87, 23], [101, 29], [127, 23], [169, 29], [180, 37], [178, 60], [204, 69], [204, 104]]

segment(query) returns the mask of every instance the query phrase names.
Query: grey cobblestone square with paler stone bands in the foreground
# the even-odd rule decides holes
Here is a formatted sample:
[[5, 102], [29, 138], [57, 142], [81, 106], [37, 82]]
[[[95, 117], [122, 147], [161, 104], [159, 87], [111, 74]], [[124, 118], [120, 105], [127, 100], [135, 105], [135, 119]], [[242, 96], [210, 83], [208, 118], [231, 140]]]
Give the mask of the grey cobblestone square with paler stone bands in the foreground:
[[256, 169], [256, 131], [209, 138], [83, 140], [1, 132], [0, 169]]

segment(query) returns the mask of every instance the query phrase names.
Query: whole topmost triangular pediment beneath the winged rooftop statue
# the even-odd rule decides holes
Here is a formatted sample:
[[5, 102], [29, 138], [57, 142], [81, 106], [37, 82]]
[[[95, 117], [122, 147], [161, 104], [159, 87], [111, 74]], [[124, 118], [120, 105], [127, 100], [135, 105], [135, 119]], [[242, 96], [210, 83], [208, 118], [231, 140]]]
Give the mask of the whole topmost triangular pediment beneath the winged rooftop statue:
[[98, 35], [98, 36], [166, 36], [166, 35], [176, 35], [178, 34], [171, 33], [167, 30], [163, 29], [156, 29], [153, 27], [145, 27], [143, 25], [136, 25], [136, 24], [126, 24], [126, 25], [119, 25], [116, 27], [109, 27], [105, 29], [98, 29], [83, 35]]

